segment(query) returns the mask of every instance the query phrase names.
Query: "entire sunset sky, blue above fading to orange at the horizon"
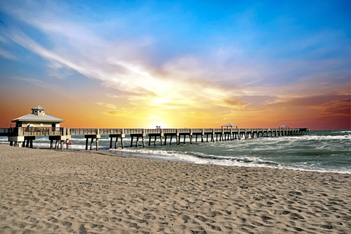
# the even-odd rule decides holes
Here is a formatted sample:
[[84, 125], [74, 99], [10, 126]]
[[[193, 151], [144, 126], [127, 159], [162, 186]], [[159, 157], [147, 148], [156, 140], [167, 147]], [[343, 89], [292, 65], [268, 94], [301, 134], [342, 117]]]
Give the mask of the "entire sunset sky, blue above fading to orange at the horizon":
[[0, 128], [350, 129], [350, 8], [0, 0]]

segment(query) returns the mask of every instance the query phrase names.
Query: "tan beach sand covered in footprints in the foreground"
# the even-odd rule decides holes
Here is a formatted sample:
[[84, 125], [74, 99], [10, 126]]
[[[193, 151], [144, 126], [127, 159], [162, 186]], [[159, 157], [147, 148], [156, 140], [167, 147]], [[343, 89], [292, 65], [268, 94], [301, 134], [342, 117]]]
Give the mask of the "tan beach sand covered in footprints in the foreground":
[[351, 233], [350, 174], [0, 144], [0, 233]]

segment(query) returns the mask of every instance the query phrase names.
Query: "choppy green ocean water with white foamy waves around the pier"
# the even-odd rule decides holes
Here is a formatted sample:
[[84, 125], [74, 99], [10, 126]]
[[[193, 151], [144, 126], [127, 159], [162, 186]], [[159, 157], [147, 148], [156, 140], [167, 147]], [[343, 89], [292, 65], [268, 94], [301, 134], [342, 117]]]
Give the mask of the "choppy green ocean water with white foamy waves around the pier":
[[[201, 137], [195, 143], [195, 136], [193, 136], [193, 144], [190, 144], [187, 137], [186, 144], [183, 144], [182, 136], [181, 144], [177, 145], [173, 137], [173, 143], [169, 145], [170, 137], [167, 137], [167, 145], [161, 146], [158, 137], [157, 145], [153, 146], [154, 137], [152, 137], [152, 146], [147, 146], [148, 137], [146, 137], [146, 147], [143, 148], [140, 146], [141, 139], [139, 147], [135, 147], [135, 138], [134, 146], [130, 147], [131, 138], [126, 136], [124, 149], [121, 149], [119, 139], [118, 149], [110, 150], [108, 149], [110, 138], [101, 136], [99, 150], [122, 156], [157, 160], [351, 173], [351, 130], [320, 130], [310, 131], [309, 135], [303, 136], [241, 138], [241, 140], [224, 142], [201, 143], [199, 139], [201, 140]], [[73, 136], [70, 141], [73, 149], [85, 149], [84, 136]], [[0, 142], [7, 143], [7, 138], [0, 138]], [[93, 150], [96, 149], [95, 144], [94, 141]], [[33, 141], [35, 147], [49, 147], [49, 145], [48, 137], [37, 137]]]

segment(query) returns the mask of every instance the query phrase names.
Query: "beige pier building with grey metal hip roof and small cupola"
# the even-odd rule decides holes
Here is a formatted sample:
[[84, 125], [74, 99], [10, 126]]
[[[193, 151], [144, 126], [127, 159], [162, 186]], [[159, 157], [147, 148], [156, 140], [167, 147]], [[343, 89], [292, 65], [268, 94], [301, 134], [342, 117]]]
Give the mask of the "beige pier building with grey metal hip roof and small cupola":
[[45, 111], [38, 105], [32, 108], [32, 113], [13, 119], [11, 122], [16, 123], [16, 127], [31, 128], [60, 128], [60, 123], [65, 122], [63, 119], [48, 115]]

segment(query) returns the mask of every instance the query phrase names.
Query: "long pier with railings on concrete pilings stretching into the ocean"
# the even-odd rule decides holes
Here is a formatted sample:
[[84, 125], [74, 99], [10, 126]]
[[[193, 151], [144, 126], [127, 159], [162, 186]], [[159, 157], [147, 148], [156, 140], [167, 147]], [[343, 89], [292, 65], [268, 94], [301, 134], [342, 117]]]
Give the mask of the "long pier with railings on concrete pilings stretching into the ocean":
[[[93, 149], [94, 139], [96, 142], [96, 150], [99, 150], [99, 139], [101, 135], [108, 135], [110, 138], [110, 149], [117, 149], [118, 140], [121, 141], [121, 147], [124, 148], [123, 139], [127, 135], [131, 137], [131, 147], [135, 141], [135, 147], [139, 146], [139, 140], [141, 138], [142, 146], [145, 147], [145, 137], [149, 137], [148, 145], [156, 145], [157, 137], [160, 138], [161, 146], [167, 144], [167, 137], [170, 137], [170, 145], [172, 145], [172, 138], [176, 138], [177, 145], [180, 144], [181, 138], [183, 138], [183, 144], [185, 144], [186, 137], [188, 136], [190, 144], [197, 142], [198, 139], [201, 142], [208, 142], [209, 140], [214, 142], [214, 136], [216, 135], [216, 141], [225, 140], [240, 140], [241, 138], [259, 138], [262, 137], [274, 137], [276, 136], [297, 136], [297, 135], [308, 135], [309, 128], [245, 128], [245, 129], [69, 129], [69, 128], [25, 128], [25, 127], [15, 127], [15, 128], [0, 128], [0, 136], [8, 137], [8, 141], [12, 146], [33, 147], [33, 140], [37, 136], [48, 136], [50, 140], [50, 149], [58, 149], [59, 143], [61, 149], [63, 150], [64, 141], [66, 141], [66, 147], [71, 136], [84, 135], [86, 138], [85, 149], [88, 150], [89, 140], [90, 147]], [[195, 141], [193, 139], [195, 136]], [[210, 136], [210, 139], [208, 138]], [[163, 142], [163, 138], [165, 138]], [[205, 139], [206, 137], [206, 139]], [[219, 137], [219, 139], [218, 139]], [[153, 138], [153, 140], [152, 140]], [[55, 142], [55, 147], [53, 142]], [[114, 143], [114, 144], [113, 144]]]

